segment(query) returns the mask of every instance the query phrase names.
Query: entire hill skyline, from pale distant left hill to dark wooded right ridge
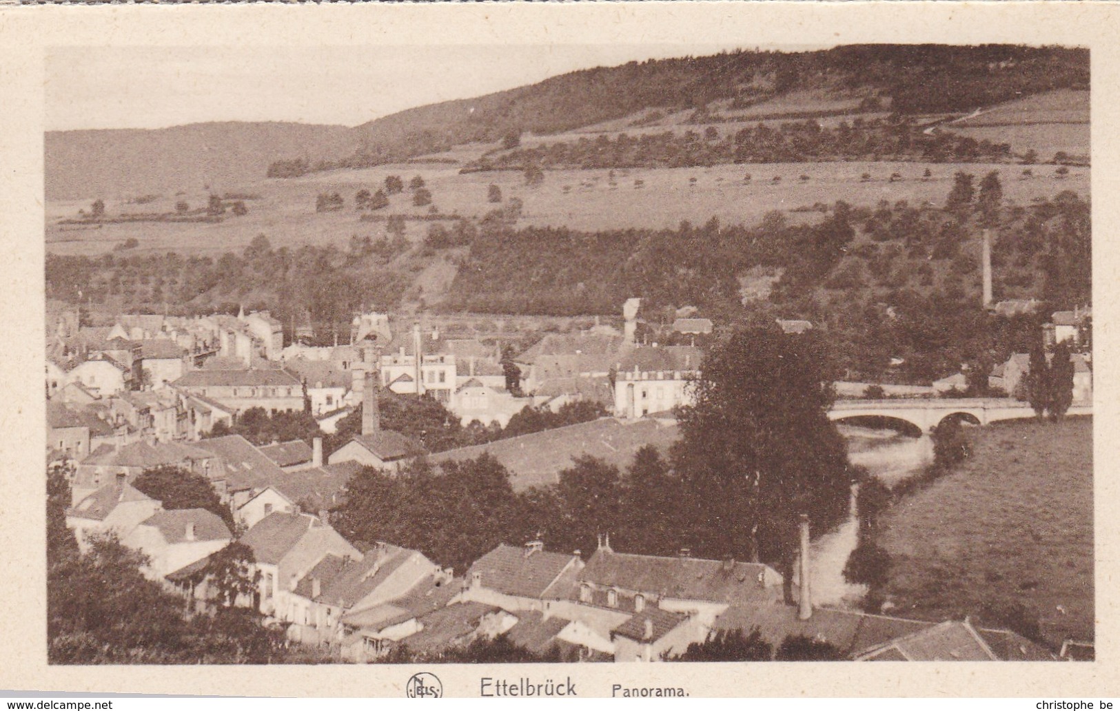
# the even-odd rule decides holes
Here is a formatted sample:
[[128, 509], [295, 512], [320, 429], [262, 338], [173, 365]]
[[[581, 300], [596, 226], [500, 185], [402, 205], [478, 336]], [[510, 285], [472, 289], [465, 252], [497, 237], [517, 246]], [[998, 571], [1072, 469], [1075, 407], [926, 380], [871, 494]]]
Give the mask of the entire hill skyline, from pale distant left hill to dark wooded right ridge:
[[806, 53], [736, 52], [556, 76], [538, 84], [410, 109], [356, 128], [199, 123], [46, 135], [49, 199], [236, 189], [265, 177], [365, 167], [475, 141], [513, 140], [643, 112], [731, 111], [796, 91], [865, 97], [900, 113], [965, 112], [1054, 88], [1088, 88], [1075, 48], [862, 45]]

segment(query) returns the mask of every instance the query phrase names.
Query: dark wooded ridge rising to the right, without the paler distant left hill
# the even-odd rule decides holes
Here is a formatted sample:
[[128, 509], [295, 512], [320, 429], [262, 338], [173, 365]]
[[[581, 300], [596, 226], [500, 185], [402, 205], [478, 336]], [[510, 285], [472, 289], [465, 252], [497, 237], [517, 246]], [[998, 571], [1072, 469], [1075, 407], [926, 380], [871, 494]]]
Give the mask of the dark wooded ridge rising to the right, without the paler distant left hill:
[[269, 175], [383, 165], [469, 142], [510, 149], [524, 131], [558, 133], [645, 110], [668, 113], [718, 100], [749, 101], [759, 85], [772, 87], [773, 96], [864, 88], [868, 95], [889, 96], [892, 110], [903, 114], [961, 112], [1053, 88], [1088, 88], [1089, 53], [1008, 45], [849, 45], [632, 62], [402, 111], [355, 129], [363, 146], [353, 156], [316, 166], [300, 159], [276, 161]]

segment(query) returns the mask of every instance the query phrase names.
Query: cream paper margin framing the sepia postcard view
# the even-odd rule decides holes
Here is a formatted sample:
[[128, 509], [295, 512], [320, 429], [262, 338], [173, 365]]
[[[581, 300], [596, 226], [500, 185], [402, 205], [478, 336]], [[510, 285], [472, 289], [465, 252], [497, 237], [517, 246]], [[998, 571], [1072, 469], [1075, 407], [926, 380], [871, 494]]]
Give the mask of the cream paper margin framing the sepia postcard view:
[[1092, 49], [1098, 312], [1098, 662], [1086, 664], [585, 664], [430, 668], [447, 695], [480, 675], [684, 686], [701, 696], [1120, 695], [1118, 670], [1117, 321], [1120, 281], [1120, 7], [1103, 2], [600, 2], [391, 6], [0, 8], [0, 690], [176, 694], [403, 695], [393, 666], [49, 667], [45, 652], [43, 476], [44, 50], [100, 45], [1028, 43]]

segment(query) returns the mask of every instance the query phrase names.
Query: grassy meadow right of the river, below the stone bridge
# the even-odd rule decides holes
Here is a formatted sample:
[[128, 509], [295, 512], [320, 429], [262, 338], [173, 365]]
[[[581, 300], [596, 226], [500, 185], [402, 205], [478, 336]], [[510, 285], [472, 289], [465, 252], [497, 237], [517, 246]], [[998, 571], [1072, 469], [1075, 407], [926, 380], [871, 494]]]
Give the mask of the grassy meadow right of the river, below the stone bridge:
[[1093, 638], [1093, 422], [1017, 421], [976, 429], [973, 455], [887, 514], [897, 612], [991, 624], [1025, 606], [1043, 634]]

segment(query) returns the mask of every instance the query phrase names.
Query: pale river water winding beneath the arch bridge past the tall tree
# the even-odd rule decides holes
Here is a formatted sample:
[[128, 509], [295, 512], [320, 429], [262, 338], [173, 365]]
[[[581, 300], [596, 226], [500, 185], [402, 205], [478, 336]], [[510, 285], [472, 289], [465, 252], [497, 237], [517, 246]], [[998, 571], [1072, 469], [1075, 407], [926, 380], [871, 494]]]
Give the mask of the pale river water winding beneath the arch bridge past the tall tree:
[[[839, 425], [848, 441], [848, 459], [866, 467], [884, 484], [894, 486], [933, 461], [933, 440], [847, 424]], [[848, 556], [858, 542], [858, 495], [853, 493], [848, 520], [810, 545], [811, 588], [814, 605], [857, 609], [867, 586], [851, 584], [843, 578]], [[796, 570], [796, 568], [795, 568]], [[795, 578], [796, 581], [796, 578]]]

